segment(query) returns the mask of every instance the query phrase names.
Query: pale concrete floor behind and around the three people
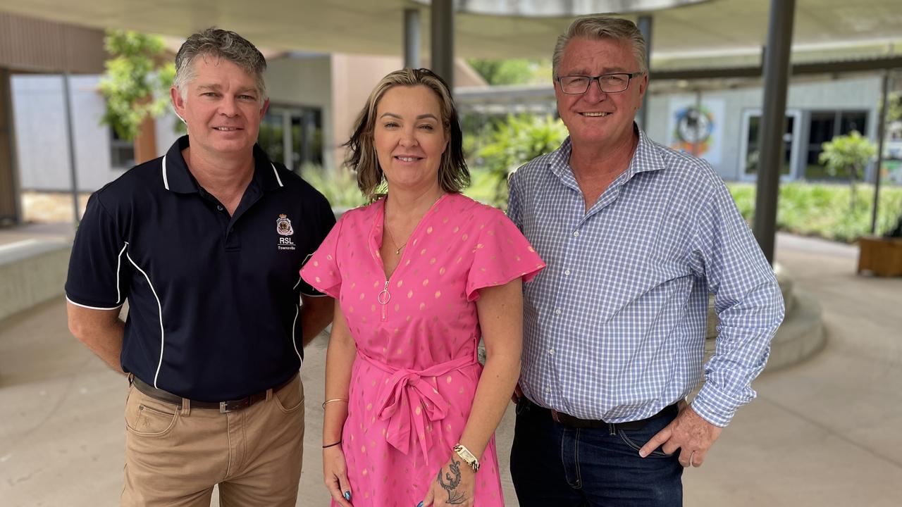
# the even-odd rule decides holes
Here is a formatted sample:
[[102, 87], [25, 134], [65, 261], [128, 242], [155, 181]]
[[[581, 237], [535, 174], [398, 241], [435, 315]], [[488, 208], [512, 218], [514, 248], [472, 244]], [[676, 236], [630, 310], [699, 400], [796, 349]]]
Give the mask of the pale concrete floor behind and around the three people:
[[[778, 237], [778, 262], [824, 307], [827, 345], [759, 377], [759, 398], [739, 411], [704, 466], [686, 471], [686, 505], [902, 505], [902, 279], [856, 276], [856, 255], [855, 247]], [[0, 505], [115, 505], [124, 378], [69, 336], [61, 299], [0, 325]], [[314, 342], [302, 368], [304, 506], [328, 499], [318, 447], [325, 345]], [[512, 423], [508, 410], [498, 430], [502, 463]]]

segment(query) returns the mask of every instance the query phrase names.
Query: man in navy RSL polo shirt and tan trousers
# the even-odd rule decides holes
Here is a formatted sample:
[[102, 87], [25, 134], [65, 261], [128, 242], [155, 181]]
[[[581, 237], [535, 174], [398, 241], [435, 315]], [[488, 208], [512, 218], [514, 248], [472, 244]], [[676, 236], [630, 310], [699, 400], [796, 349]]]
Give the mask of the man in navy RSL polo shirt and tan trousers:
[[222, 505], [294, 505], [298, 370], [332, 319], [332, 300], [299, 269], [335, 218], [254, 144], [269, 101], [252, 43], [207, 29], [176, 68], [188, 135], [88, 201], [69, 329], [132, 380], [124, 505], [209, 505], [215, 484]]

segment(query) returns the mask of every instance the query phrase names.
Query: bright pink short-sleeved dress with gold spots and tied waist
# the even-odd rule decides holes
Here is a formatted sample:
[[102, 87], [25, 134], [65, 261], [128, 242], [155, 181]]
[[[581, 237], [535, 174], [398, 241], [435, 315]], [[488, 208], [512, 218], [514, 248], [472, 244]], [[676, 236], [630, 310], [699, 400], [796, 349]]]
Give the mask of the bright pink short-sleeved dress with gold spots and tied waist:
[[[354, 507], [423, 499], [464, 431], [482, 373], [479, 289], [529, 281], [545, 266], [501, 211], [446, 194], [386, 280], [384, 202], [345, 213], [301, 270], [340, 301], [357, 346], [342, 432]], [[503, 507], [493, 437], [480, 463], [475, 505]]]

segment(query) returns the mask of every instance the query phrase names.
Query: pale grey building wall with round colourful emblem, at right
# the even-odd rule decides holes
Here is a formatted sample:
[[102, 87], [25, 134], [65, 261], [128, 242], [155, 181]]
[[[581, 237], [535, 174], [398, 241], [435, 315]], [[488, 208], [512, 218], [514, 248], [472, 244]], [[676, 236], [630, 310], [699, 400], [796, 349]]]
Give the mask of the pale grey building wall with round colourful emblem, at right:
[[[868, 111], [868, 137], [876, 143], [877, 139], [877, 106], [879, 104], [880, 78], [879, 76], [838, 78], [833, 80], [813, 81], [791, 84], [787, 90], [787, 110], [811, 111], [835, 111], [835, 110], [866, 110]], [[722, 132], [722, 149], [720, 163], [714, 164], [714, 169], [724, 180], [741, 180], [743, 175], [742, 140], [746, 133], [742, 130], [742, 115], [746, 111], [760, 110], [764, 100], [763, 88], [737, 88], [718, 91], [706, 91], [702, 94], [702, 100], [718, 99], [724, 103], [724, 118]], [[649, 126], [646, 132], [651, 139], [658, 143], [667, 143], [668, 130], [672, 126], [670, 115], [671, 101], [695, 100], [694, 93], [663, 93], [649, 97]], [[800, 129], [796, 131], [801, 136], [802, 149], [793, 161], [794, 168], [803, 163], [801, 152], [807, 140], [805, 129], [805, 116]]]

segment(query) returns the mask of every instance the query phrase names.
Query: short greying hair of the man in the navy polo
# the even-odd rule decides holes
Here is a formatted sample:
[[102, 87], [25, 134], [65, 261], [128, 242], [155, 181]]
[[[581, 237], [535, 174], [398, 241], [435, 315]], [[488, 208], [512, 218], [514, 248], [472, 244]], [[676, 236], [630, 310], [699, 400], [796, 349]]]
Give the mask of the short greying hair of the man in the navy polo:
[[172, 79], [172, 86], [179, 90], [182, 98], [185, 98], [188, 84], [197, 77], [194, 61], [198, 57], [207, 56], [231, 61], [244, 69], [257, 81], [261, 104], [266, 100], [266, 82], [263, 81], [266, 59], [262, 52], [241, 35], [216, 27], [191, 35], [175, 55], [175, 78]]

